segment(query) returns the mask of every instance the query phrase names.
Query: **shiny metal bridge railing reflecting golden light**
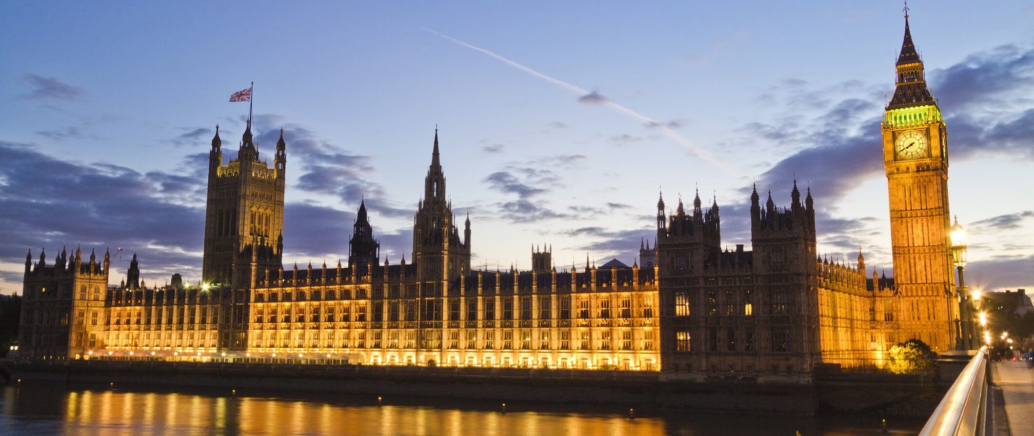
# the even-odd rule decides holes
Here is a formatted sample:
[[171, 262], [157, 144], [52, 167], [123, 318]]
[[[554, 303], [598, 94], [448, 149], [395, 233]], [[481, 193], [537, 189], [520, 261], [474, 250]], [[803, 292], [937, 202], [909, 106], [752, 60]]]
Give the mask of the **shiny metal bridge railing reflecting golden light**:
[[990, 377], [990, 360], [984, 346], [959, 374], [919, 435], [984, 434]]

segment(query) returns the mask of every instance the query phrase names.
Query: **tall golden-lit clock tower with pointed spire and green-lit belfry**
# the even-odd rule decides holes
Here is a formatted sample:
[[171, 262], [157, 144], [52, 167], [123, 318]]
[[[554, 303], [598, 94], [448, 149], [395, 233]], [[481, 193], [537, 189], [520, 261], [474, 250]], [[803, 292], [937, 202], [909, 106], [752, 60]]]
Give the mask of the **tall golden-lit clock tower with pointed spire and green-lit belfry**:
[[954, 344], [957, 316], [948, 251], [947, 130], [912, 43], [908, 9], [896, 69], [882, 130], [894, 287], [901, 299], [898, 339], [920, 339], [944, 351]]

